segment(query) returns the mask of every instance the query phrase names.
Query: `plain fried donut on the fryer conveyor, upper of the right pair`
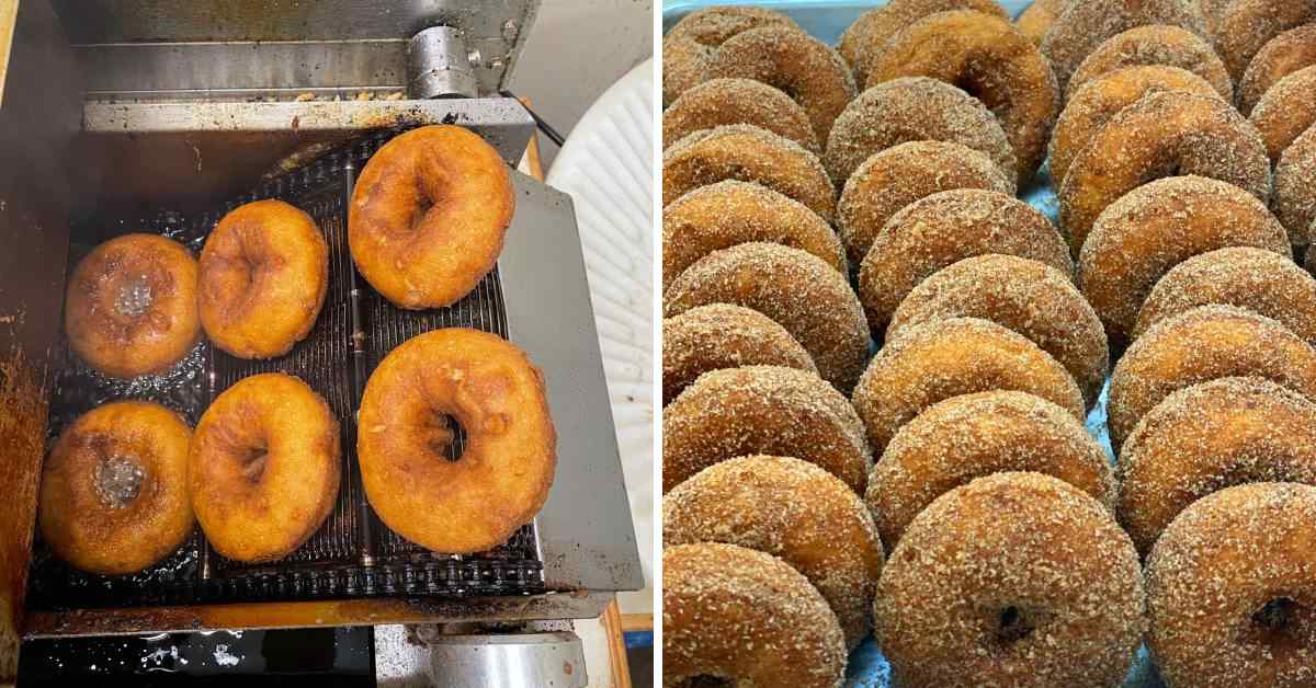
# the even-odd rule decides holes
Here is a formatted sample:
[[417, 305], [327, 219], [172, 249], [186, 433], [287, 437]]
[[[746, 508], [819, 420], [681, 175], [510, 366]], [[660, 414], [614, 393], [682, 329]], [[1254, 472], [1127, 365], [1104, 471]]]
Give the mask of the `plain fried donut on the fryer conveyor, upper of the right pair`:
[[446, 307], [494, 268], [515, 208], [494, 146], [461, 126], [412, 129], [384, 143], [357, 178], [351, 259], [393, 305]]

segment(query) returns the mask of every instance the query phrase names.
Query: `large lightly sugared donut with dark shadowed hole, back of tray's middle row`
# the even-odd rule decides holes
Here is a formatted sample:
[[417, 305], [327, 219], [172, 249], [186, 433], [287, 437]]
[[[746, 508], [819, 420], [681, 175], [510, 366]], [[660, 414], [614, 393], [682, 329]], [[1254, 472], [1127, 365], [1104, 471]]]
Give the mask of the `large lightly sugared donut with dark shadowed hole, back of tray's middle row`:
[[1046, 58], [1024, 34], [982, 12], [941, 12], [905, 28], [873, 58], [866, 86], [930, 76], [965, 89], [1000, 120], [1028, 183], [1046, 157], [1061, 96]]

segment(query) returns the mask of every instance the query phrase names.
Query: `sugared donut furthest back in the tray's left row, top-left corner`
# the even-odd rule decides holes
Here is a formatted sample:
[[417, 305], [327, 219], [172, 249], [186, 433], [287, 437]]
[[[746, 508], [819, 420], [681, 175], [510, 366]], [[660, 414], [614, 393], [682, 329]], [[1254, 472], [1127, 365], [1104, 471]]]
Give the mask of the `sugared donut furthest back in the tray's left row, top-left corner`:
[[758, 7], [708, 7], [691, 12], [662, 39], [662, 104], [669, 107], [682, 93], [704, 80], [708, 61], [728, 38], [759, 26], [790, 26], [795, 20]]

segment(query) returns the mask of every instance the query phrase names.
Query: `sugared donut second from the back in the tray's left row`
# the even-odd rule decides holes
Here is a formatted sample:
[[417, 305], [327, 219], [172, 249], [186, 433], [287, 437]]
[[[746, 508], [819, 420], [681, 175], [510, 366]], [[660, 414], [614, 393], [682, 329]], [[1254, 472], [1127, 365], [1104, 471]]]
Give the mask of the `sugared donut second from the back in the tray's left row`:
[[738, 33], [708, 62], [708, 78], [754, 79], [780, 88], [804, 108], [819, 141], [854, 100], [854, 75], [830, 46], [787, 26]]

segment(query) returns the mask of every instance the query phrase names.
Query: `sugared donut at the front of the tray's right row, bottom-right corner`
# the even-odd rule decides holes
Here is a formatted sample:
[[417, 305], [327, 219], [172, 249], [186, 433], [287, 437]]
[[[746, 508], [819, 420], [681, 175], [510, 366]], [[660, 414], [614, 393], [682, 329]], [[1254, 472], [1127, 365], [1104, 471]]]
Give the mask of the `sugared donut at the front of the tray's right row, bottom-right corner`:
[[1262, 483], [1188, 506], [1148, 560], [1148, 647], [1169, 685], [1312, 684], [1316, 488]]

